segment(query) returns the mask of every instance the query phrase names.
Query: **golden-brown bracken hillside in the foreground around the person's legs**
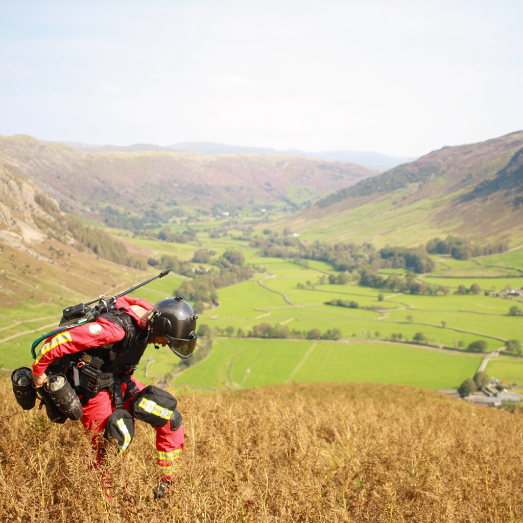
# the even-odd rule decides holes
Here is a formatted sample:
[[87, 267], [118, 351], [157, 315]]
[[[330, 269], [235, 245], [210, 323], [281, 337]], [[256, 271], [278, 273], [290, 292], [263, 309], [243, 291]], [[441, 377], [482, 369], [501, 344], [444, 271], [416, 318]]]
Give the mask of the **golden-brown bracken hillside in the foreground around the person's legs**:
[[177, 389], [185, 452], [152, 499], [153, 429], [109, 458], [112, 501], [78, 422], [23, 412], [0, 381], [2, 521], [507, 523], [523, 518], [521, 414], [405, 386]]

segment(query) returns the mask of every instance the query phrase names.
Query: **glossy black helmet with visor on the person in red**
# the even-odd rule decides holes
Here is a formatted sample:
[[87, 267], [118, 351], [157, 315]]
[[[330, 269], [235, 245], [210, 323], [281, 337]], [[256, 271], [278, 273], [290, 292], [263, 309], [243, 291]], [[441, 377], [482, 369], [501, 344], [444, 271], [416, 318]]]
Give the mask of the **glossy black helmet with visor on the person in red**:
[[166, 339], [167, 345], [176, 356], [186, 359], [196, 347], [197, 317], [181, 296], [165, 298], [154, 305], [147, 326], [154, 336]]

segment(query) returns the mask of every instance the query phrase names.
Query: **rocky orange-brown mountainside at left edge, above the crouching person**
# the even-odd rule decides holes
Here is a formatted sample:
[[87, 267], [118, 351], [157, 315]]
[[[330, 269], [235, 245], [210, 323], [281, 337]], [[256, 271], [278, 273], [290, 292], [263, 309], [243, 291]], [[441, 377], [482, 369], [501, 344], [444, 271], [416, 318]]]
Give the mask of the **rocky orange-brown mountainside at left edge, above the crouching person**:
[[[85, 299], [93, 283], [103, 289], [125, 288], [143, 279], [145, 259], [103, 231], [82, 224], [26, 178], [10, 173], [0, 154], [0, 300], [4, 311], [20, 303], [60, 304]], [[109, 261], [113, 260], [113, 261]], [[138, 261], [139, 263], [133, 263]], [[44, 314], [49, 315], [49, 314]]]

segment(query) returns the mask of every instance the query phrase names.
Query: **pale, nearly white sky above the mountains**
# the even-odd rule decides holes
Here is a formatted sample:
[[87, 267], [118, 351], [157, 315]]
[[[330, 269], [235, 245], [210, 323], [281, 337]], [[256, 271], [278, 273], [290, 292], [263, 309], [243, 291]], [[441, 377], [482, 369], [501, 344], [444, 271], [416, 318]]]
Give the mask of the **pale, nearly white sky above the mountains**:
[[421, 156], [523, 129], [520, 0], [0, 0], [0, 134]]

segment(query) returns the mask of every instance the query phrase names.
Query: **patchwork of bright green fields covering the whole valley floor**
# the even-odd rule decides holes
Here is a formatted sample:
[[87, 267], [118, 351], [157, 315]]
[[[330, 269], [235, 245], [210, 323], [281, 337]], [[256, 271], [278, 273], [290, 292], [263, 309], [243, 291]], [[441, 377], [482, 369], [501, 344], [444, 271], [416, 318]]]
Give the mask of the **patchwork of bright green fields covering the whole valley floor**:
[[[183, 231], [181, 225], [173, 225]], [[484, 292], [472, 295], [453, 294], [459, 285], [467, 289], [479, 283], [482, 290], [504, 290], [523, 287], [517, 270], [523, 266], [523, 249], [474, 260], [453, 260], [435, 257], [436, 271], [423, 279], [431, 285], [446, 285], [448, 295], [414, 295], [362, 287], [321, 283], [321, 278], [336, 274], [323, 261], [266, 258], [246, 241], [227, 236], [211, 238], [201, 232], [199, 243], [175, 244], [151, 238], [131, 237], [120, 232], [126, 241], [149, 249], [156, 256], [168, 254], [191, 259], [199, 248], [212, 249], [220, 256], [226, 249], [240, 250], [247, 264], [257, 267], [254, 278], [218, 290], [219, 305], [200, 313], [199, 325], [206, 324], [223, 333], [233, 327], [233, 337], [214, 339], [214, 348], [202, 362], [190, 368], [168, 349], [147, 349], [136, 372], [142, 381], [161, 380], [167, 374], [177, 375], [179, 384], [214, 388], [243, 388], [286, 381], [369, 381], [405, 383], [426, 388], [457, 386], [474, 374], [482, 356], [441, 348], [466, 348], [482, 339], [487, 350], [503, 346], [507, 339], [523, 341], [521, 316], [509, 316], [514, 304], [523, 308], [523, 298], [498, 297]], [[237, 233], [239, 234], [239, 232]], [[208, 265], [208, 268], [211, 266]], [[161, 268], [151, 269], [151, 276]], [[510, 274], [514, 271], [514, 275]], [[387, 269], [384, 274], [401, 274], [401, 269]], [[481, 278], [480, 278], [481, 273]], [[459, 277], [454, 277], [459, 275]], [[473, 276], [471, 276], [473, 275]], [[467, 276], [467, 277], [465, 277]], [[155, 280], [133, 293], [152, 303], [173, 295], [186, 279], [170, 274]], [[138, 283], [138, 282], [135, 282]], [[111, 289], [112, 292], [124, 289]], [[104, 292], [108, 290], [104, 289]], [[82, 299], [93, 299], [81, 297]], [[326, 305], [331, 300], [357, 302], [357, 308]], [[0, 310], [0, 366], [11, 369], [30, 362], [30, 345], [39, 335], [58, 323], [61, 310], [71, 305], [69, 298], [58, 303], [42, 304], [27, 301], [16, 309]], [[268, 323], [288, 327], [289, 331], [321, 333], [339, 329], [342, 339], [334, 341], [308, 339], [236, 338], [237, 329], [247, 334], [255, 325]], [[391, 343], [401, 336], [412, 342], [422, 333], [426, 343], [435, 348], [415, 344]], [[523, 382], [522, 361], [518, 358], [496, 358], [487, 367], [496, 377]], [[180, 371], [183, 371], [179, 373]], [[179, 373], [179, 374], [178, 374]]]

